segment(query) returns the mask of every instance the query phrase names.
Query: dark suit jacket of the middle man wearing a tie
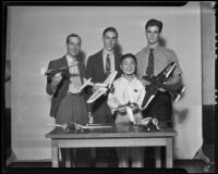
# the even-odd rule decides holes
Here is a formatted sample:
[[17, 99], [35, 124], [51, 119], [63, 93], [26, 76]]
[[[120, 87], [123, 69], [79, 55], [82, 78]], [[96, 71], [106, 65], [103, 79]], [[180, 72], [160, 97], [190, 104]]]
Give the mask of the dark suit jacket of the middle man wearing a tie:
[[[120, 70], [120, 59], [122, 54], [119, 52], [114, 52], [114, 69], [118, 71], [118, 75], [116, 78], [120, 77], [121, 70]], [[94, 83], [102, 83], [106, 79], [107, 75], [104, 71], [104, 61], [102, 61], [102, 50], [99, 52], [90, 55], [87, 60], [86, 65], [86, 78], [92, 78]], [[92, 95], [92, 91], [88, 90], [87, 98]], [[111, 112], [109, 107], [107, 105], [107, 97], [102, 96], [97, 99], [92, 107], [92, 113], [94, 115], [95, 123], [108, 123], [112, 122], [111, 120]]]

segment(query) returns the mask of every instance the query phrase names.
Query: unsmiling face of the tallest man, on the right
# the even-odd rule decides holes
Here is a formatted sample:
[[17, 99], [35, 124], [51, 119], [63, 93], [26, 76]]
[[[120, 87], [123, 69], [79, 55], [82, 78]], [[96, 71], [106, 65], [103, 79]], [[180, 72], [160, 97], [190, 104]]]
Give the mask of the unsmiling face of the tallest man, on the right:
[[146, 37], [149, 45], [158, 42], [160, 33], [158, 26], [148, 26], [146, 30]]

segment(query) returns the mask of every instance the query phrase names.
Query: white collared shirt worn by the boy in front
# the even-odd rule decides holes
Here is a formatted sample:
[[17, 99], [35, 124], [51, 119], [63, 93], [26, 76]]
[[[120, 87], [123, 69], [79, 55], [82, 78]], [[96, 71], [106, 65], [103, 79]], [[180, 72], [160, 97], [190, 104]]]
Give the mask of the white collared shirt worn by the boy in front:
[[108, 105], [111, 112], [120, 105], [136, 103], [141, 109], [143, 99], [145, 97], [145, 87], [142, 82], [135, 76], [129, 82], [123, 75], [113, 82], [113, 92], [108, 95]]

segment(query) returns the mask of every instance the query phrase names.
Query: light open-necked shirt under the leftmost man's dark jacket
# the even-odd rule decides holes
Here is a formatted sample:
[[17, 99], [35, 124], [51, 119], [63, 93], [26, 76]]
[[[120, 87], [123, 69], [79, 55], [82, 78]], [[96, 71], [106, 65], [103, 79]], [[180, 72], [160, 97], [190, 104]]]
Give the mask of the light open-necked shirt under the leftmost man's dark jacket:
[[[66, 61], [68, 61], [69, 66], [77, 63], [77, 61], [69, 54], [66, 54]], [[80, 92], [78, 89], [82, 86], [82, 82], [81, 82], [77, 64], [69, 67], [69, 72], [70, 72], [70, 85], [69, 85], [68, 92], [69, 94], [78, 94]]]

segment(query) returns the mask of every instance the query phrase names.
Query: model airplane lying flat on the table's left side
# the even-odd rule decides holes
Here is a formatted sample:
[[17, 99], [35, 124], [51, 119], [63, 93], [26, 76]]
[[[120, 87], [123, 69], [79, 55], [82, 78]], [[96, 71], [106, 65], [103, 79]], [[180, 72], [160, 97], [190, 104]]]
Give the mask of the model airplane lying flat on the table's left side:
[[55, 127], [61, 127], [64, 132], [70, 132], [70, 130], [90, 130], [90, 129], [99, 129], [99, 128], [111, 128], [112, 126], [110, 125], [101, 125], [101, 124], [77, 124], [77, 123], [64, 123], [64, 124], [47, 124], [48, 126], [55, 126]]

